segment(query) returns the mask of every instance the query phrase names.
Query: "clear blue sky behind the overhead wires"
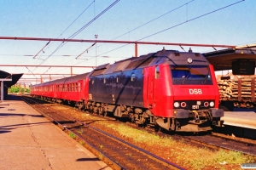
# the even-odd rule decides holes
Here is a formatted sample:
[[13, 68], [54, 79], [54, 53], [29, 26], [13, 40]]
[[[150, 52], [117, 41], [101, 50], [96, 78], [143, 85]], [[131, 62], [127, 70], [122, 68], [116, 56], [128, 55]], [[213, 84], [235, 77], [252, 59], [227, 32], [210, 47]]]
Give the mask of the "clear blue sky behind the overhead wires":
[[[0, 0], [0, 37], [68, 38], [113, 2], [114, 0]], [[98, 40], [113, 40], [118, 37], [115, 40], [226, 45], [256, 43], [256, 1], [236, 2], [240, 1], [120, 0], [73, 38], [93, 40], [97, 34]], [[232, 3], [236, 4], [224, 8]], [[223, 9], [218, 10], [219, 8]], [[207, 14], [214, 10], [218, 11]], [[199, 16], [201, 17], [197, 18]], [[184, 23], [185, 21], [188, 22]], [[68, 26], [70, 27], [67, 29]], [[153, 34], [155, 35], [151, 36]], [[54, 54], [61, 42], [50, 42], [47, 48], [44, 48], [44, 53], [38, 54], [46, 43], [0, 40], [0, 63], [2, 65], [96, 65], [95, 56], [98, 55], [97, 65], [102, 65], [134, 56], [132, 44], [119, 48], [124, 44], [98, 43], [90, 48], [89, 53], [84, 53], [79, 59], [75, 59], [92, 44], [82, 42], [67, 42]], [[153, 53], [162, 48], [163, 46], [139, 45], [138, 54]], [[182, 51], [175, 46], [165, 48]], [[183, 48], [189, 50], [189, 47]], [[213, 51], [213, 48], [193, 47], [192, 49], [200, 53]], [[38, 54], [39, 59], [32, 59], [35, 54]], [[10, 73], [29, 72], [22, 67], [0, 67], [0, 70]], [[70, 73], [70, 69], [63, 68], [48, 70], [48, 68], [29, 67], [29, 70], [34, 73], [45, 71]], [[87, 71], [90, 69], [73, 69], [75, 74]]]

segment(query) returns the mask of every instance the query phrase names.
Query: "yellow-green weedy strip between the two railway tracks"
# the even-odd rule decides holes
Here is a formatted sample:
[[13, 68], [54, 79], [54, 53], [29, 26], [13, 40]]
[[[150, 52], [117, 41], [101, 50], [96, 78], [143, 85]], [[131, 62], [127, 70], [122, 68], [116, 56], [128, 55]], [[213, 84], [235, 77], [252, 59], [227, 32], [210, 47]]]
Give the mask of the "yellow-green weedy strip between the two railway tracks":
[[170, 150], [166, 149], [168, 157], [175, 157], [177, 162], [183, 162], [183, 166], [190, 167], [190, 169], [207, 169], [208, 167], [210, 169], [212, 167], [223, 169], [226, 164], [232, 169], [237, 169], [241, 163], [255, 161], [253, 156], [244, 156], [241, 152], [226, 150], [212, 151], [207, 148], [198, 148], [185, 144], [183, 140], [176, 141], [172, 139], [172, 136], [166, 135], [165, 137], [160, 137], [154, 133], [137, 130], [125, 124], [117, 126], [116, 124], [106, 122], [98, 123], [112, 128], [125, 138], [133, 139], [137, 144], [143, 144], [147, 141], [149, 145], [170, 148]]

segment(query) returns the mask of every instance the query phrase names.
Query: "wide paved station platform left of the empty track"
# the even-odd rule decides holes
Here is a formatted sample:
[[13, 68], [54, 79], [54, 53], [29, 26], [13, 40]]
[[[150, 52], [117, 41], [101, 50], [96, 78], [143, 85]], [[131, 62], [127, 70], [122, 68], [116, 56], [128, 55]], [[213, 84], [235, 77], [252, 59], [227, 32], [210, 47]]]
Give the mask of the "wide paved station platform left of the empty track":
[[19, 96], [0, 103], [0, 137], [0, 169], [112, 169]]

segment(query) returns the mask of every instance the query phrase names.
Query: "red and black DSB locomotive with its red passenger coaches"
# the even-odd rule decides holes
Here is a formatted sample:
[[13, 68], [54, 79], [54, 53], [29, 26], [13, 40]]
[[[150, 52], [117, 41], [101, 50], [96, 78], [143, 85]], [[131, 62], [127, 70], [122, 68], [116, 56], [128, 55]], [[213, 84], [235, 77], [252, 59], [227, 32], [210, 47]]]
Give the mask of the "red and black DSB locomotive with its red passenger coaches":
[[166, 50], [97, 66], [93, 71], [31, 86], [33, 97], [138, 126], [175, 132], [222, 127], [224, 110], [213, 66], [200, 53]]

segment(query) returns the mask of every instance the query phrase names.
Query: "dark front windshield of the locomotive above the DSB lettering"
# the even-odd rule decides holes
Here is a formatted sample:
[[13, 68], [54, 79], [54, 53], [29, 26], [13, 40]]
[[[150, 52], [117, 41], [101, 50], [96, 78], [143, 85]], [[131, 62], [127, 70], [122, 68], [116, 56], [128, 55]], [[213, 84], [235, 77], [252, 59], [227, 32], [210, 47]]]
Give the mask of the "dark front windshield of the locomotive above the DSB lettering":
[[207, 65], [171, 66], [173, 84], [212, 84]]

